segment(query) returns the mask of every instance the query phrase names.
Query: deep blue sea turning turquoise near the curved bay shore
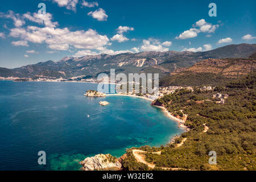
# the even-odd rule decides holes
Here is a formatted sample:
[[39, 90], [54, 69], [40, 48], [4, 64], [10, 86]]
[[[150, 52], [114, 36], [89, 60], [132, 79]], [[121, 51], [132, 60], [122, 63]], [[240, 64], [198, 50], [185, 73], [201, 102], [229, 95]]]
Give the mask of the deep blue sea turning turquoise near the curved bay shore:
[[[86, 156], [119, 157], [182, 132], [150, 101], [88, 98], [89, 89], [97, 84], [0, 81], [0, 170], [77, 170]], [[102, 107], [104, 100], [110, 104]], [[46, 165], [39, 166], [39, 151], [46, 151]]]

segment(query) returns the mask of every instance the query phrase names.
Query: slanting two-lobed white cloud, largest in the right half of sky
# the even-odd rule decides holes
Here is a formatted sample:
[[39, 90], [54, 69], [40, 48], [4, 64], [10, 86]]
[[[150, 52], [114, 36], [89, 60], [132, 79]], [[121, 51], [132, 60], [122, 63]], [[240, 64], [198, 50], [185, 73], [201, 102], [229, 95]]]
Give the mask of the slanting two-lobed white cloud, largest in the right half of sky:
[[195, 38], [200, 32], [204, 33], [214, 33], [215, 30], [219, 27], [218, 24], [212, 25], [211, 23], [205, 22], [204, 19], [198, 20], [195, 24], [193, 24], [193, 27], [199, 27], [199, 28], [190, 28], [189, 30], [186, 30], [182, 32], [179, 36], [176, 36], [175, 39], [189, 39], [189, 38]]

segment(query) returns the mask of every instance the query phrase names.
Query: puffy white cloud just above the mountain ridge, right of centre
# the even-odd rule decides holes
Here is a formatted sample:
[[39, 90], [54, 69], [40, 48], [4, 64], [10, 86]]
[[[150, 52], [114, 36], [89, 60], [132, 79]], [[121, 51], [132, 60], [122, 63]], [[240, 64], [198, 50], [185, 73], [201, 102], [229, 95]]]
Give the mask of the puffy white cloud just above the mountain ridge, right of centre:
[[163, 48], [157, 39], [143, 40], [143, 45], [141, 46], [141, 51], [169, 51], [168, 48]]

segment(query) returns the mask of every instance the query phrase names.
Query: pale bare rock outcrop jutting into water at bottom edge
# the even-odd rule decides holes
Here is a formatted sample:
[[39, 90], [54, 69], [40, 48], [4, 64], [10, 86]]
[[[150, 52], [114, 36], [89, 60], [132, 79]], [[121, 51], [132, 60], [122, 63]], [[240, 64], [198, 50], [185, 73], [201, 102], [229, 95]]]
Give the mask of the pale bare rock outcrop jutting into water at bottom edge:
[[98, 154], [84, 159], [80, 164], [84, 171], [118, 171], [122, 168], [120, 160], [110, 154]]

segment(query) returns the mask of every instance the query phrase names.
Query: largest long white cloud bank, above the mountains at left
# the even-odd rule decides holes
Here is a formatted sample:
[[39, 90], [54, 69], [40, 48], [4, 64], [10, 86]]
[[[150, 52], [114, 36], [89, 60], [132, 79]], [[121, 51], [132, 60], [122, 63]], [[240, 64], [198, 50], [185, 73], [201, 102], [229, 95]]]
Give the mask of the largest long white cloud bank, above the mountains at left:
[[72, 32], [68, 28], [28, 26], [27, 30], [24, 28], [12, 28], [10, 36], [33, 43], [45, 42], [49, 48], [56, 50], [67, 50], [69, 46], [96, 49], [109, 43], [106, 35], [99, 35], [92, 29]]

